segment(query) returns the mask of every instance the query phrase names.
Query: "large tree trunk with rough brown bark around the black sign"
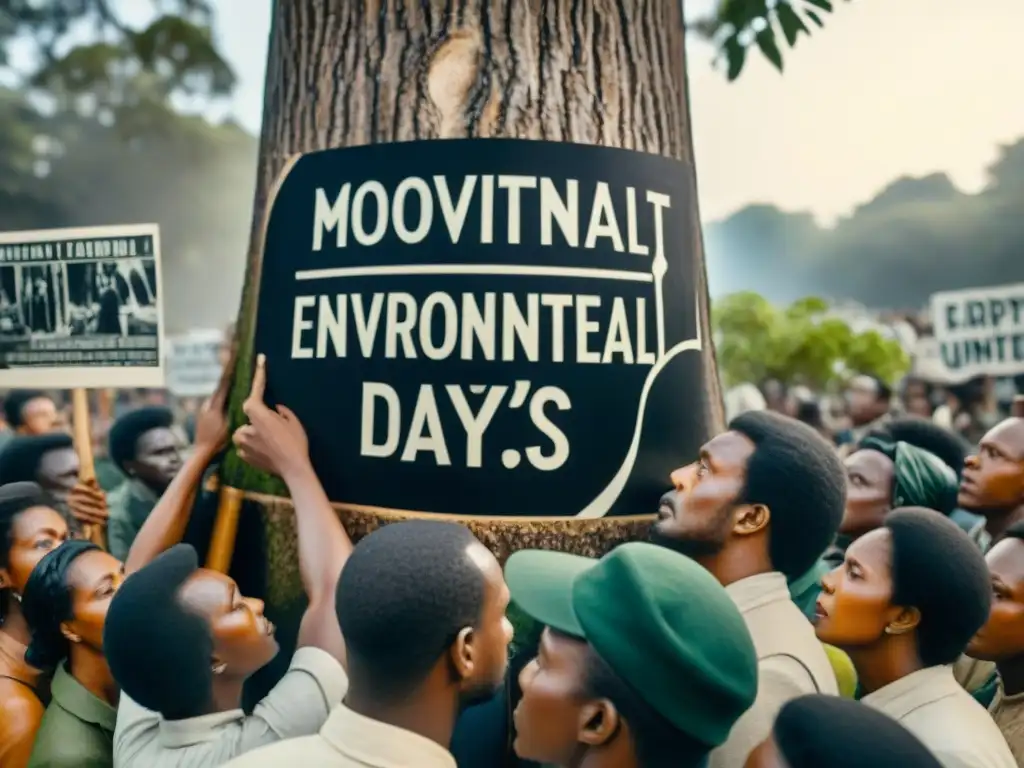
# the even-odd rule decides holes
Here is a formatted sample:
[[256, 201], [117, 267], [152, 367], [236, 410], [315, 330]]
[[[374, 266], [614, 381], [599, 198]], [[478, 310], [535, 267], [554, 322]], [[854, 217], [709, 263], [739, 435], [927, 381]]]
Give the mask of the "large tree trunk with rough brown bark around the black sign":
[[[687, 109], [679, 0], [288, 0], [273, 5], [252, 240], [232, 397], [239, 412], [252, 370], [254, 309], [268, 206], [297, 154], [410, 139], [529, 138], [624, 147], [687, 164]], [[681, 392], [702, 438], [722, 426], [710, 342], [695, 193], [688, 210], [703, 339], [701, 391]], [[272, 365], [272, 362], [271, 362]], [[697, 444], [680, 446], [692, 457]], [[299, 591], [291, 508], [281, 488], [232, 458], [224, 480], [251, 493], [268, 532], [271, 602]], [[653, 510], [651, 510], [653, 511]], [[353, 537], [389, 515], [340, 509]], [[476, 521], [499, 555], [521, 546], [600, 554], [642, 535], [636, 520], [545, 525]]]

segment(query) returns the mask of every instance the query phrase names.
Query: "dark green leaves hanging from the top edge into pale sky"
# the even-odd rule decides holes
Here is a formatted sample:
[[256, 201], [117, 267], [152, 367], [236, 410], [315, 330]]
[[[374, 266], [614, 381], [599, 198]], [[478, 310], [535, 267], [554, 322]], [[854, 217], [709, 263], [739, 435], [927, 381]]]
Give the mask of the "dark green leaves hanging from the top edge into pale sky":
[[[849, 0], [845, 0], [848, 2]], [[720, 0], [715, 15], [691, 23], [690, 29], [713, 42], [729, 80], [743, 71], [756, 48], [782, 71], [782, 43], [793, 48], [804, 35], [825, 26], [840, 0]]]

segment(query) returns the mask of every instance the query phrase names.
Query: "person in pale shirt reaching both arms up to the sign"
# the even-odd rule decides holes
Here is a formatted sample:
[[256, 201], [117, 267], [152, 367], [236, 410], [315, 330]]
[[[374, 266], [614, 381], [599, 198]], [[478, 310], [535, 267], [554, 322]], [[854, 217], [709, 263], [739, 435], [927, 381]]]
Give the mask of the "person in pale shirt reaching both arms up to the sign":
[[195, 453], [132, 544], [127, 579], [106, 614], [103, 651], [121, 687], [116, 768], [216, 768], [263, 744], [315, 733], [344, 695], [334, 595], [351, 542], [313, 473], [302, 425], [289, 409], [263, 401], [264, 366], [260, 355], [243, 406], [251, 424], [236, 431], [234, 443], [244, 461], [281, 476], [295, 504], [309, 599], [297, 650], [281, 681], [245, 713], [246, 679], [279, 650], [273, 625], [261, 600], [198, 567], [195, 550], [178, 544], [203, 473], [226, 442], [222, 381], [197, 422]]

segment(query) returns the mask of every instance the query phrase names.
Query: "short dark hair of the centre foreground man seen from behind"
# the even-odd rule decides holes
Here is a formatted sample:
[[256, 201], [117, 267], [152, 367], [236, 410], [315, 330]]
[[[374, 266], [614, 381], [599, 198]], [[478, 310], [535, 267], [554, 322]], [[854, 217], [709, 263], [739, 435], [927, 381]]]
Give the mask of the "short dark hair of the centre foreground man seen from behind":
[[484, 577], [469, 555], [482, 545], [453, 522], [409, 520], [378, 528], [352, 550], [335, 606], [349, 664], [383, 696], [418, 686], [483, 610]]

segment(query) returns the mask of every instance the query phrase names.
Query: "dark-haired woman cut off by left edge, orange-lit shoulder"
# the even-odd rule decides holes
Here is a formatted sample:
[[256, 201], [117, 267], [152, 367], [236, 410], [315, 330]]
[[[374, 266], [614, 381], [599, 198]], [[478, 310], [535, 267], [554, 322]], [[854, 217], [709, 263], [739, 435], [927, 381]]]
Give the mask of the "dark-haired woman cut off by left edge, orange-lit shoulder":
[[68, 522], [34, 482], [0, 486], [0, 766], [25, 768], [49, 699], [46, 676], [26, 660], [22, 611], [29, 575], [68, 539]]

